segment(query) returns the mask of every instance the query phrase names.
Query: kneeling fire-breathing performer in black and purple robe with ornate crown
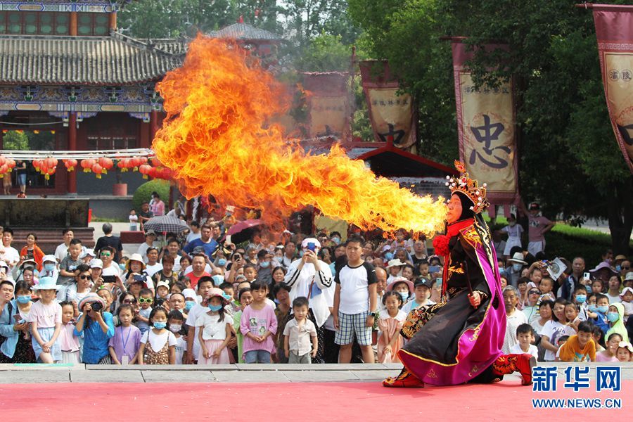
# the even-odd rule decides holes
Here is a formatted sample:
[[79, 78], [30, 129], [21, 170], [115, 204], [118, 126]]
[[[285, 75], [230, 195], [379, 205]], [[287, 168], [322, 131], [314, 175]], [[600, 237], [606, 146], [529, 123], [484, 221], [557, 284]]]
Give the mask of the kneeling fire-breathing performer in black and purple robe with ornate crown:
[[515, 371], [523, 385], [532, 383], [531, 354], [501, 353], [506, 312], [497, 253], [481, 216], [490, 205], [486, 185], [468, 177], [461, 162], [455, 167], [459, 177], [447, 177], [447, 233], [433, 240], [444, 256], [442, 300], [409, 312], [401, 333], [410, 341], [398, 352], [404, 368], [385, 387], [492, 383]]

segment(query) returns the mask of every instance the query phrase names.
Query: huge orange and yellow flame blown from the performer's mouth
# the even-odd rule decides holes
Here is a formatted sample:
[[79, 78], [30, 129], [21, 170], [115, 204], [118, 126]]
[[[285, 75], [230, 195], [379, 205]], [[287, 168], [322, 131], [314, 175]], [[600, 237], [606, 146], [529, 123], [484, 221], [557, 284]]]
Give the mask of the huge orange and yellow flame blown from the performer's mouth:
[[198, 35], [158, 91], [167, 118], [153, 148], [189, 198], [259, 208], [269, 223], [314, 205], [362, 229], [443, 229], [442, 198], [376, 177], [341, 148], [311, 155], [288, 143], [281, 127], [267, 124], [287, 103], [283, 87], [235, 44]]

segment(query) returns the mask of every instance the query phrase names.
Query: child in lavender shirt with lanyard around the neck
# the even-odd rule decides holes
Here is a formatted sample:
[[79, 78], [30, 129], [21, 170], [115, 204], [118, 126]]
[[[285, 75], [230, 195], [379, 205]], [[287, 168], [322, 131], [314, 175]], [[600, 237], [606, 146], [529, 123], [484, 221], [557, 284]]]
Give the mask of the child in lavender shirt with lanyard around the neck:
[[139, 359], [141, 330], [132, 325], [134, 308], [127, 303], [121, 305], [117, 309], [117, 317], [120, 326], [115, 328], [115, 335], [108, 343], [112, 363], [115, 365], [135, 364]]

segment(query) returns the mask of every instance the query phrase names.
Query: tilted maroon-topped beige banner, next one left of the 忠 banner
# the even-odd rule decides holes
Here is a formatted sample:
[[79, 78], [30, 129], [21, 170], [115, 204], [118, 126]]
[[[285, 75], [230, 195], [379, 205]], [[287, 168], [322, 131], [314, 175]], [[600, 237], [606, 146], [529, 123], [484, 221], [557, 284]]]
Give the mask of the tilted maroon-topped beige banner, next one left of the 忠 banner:
[[386, 61], [359, 64], [374, 139], [416, 153], [417, 117], [410, 94], [398, 95], [399, 83]]

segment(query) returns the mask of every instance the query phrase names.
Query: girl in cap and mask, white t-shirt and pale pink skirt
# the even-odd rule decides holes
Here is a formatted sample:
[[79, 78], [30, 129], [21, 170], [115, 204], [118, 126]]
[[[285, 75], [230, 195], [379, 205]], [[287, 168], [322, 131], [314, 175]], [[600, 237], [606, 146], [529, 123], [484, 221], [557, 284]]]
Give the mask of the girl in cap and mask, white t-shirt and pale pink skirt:
[[196, 327], [200, 328], [198, 365], [229, 364], [229, 352], [226, 346], [231, 340], [231, 321], [224, 310], [228, 302], [222, 290], [212, 288], [209, 293], [208, 312], [196, 319]]

